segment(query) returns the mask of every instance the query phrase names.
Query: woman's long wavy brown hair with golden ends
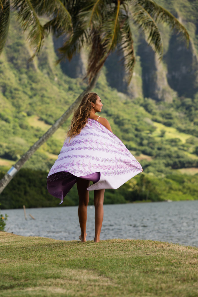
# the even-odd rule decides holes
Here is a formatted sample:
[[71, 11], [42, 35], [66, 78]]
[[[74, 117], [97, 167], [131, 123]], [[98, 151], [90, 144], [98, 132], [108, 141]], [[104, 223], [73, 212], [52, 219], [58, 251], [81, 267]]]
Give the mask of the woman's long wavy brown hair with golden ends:
[[87, 119], [90, 116], [91, 110], [93, 108], [92, 102], [95, 104], [97, 100], [98, 95], [96, 93], [87, 93], [82, 101], [80, 102], [80, 105], [75, 110], [71, 126], [69, 131], [66, 134], [66, 137], [69, 137], [69, 141], [71, 138], [73, 138], [75, 135], [78, 135], [83, 129], [87, 123]]

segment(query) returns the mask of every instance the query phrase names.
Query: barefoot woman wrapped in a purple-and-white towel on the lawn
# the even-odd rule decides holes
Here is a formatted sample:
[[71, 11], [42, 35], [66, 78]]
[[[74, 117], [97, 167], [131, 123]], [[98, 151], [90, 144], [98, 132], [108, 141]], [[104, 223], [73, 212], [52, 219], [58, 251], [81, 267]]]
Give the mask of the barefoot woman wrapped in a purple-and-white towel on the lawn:
[[[79, 195], [79, 236], [86, 241], [89, 190], [94, 190], [95, 237], [99, 242], [103, 220], [104, 189], [117, 189], [142, 172], [140, 163], [117, 138], [109, 122], [96, 115], [102, 102], [96, 93], [86, 94], [72, 118], [70, 130], [47, 176], [47, 189], [63, 202], [65, 195], [77, 183]], [[93, 184], [90, 186], [90, 181]], [[62, 203], [61, 202], [61, 203]]]

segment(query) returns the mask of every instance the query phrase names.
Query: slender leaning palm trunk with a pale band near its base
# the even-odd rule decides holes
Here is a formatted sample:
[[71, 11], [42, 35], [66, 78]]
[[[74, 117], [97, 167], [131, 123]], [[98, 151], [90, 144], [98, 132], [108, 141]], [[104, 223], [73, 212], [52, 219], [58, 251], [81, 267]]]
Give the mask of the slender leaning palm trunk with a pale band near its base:
[[31, 148], [13, 165], [8, 172], [4, 175], [4, 177], [0, 180], [0, 194], [5, 189], [5, 187], [9, 184], [11, 179], [15, 176], [15, 174], [21, 169], [21, 167], [25, 164], [25, 162], [34, 154], [34, 152], [45, 142], [47, 141], [53, 133], [61, 127], [61, 125], [69, 118], [71, 112], [77, 108], [80, 101], [83, 99], [85, 94], [91, 91], [94, 88], [99, 77], [99, 73], [91, 80], [91, 83], [87, 86], [85, 91], [83, 91], [78, 98], [72, 103], [72, 105], [65, 111], [65, 113], [52, 125], [52, 127], [45, 132], [45, 134], [37, 140], [31, 146]]

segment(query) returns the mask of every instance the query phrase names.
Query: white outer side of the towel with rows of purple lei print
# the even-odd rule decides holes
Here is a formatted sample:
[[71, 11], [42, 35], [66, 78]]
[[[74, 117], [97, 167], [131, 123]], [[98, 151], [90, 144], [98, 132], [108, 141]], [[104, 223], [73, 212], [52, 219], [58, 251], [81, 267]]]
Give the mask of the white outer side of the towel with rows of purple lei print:
[[[77, 153], [80, 151], [81, 154]], [[66, 139], [49, 174], [68, 171], [78, 176], [94, 172], [113, 176], [140, 172], [140, 168], [140, 163], [117, 136], [99, 122], [88, 119], [80, 134], [70, 142]], [[63, 178], [62, 174], [58, 176]]]

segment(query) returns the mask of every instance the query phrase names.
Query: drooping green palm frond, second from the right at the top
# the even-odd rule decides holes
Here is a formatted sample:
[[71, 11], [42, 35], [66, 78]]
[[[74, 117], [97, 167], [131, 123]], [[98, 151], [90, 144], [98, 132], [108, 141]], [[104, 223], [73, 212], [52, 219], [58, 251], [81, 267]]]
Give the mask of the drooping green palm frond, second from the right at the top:
[[159, 54], [161, 59], [163, 56], [163, 44], [159, 28], [148, 11], [137, 2], [135, 1], [132, 5], [132, 18], [148, 34], [148, 43]]

